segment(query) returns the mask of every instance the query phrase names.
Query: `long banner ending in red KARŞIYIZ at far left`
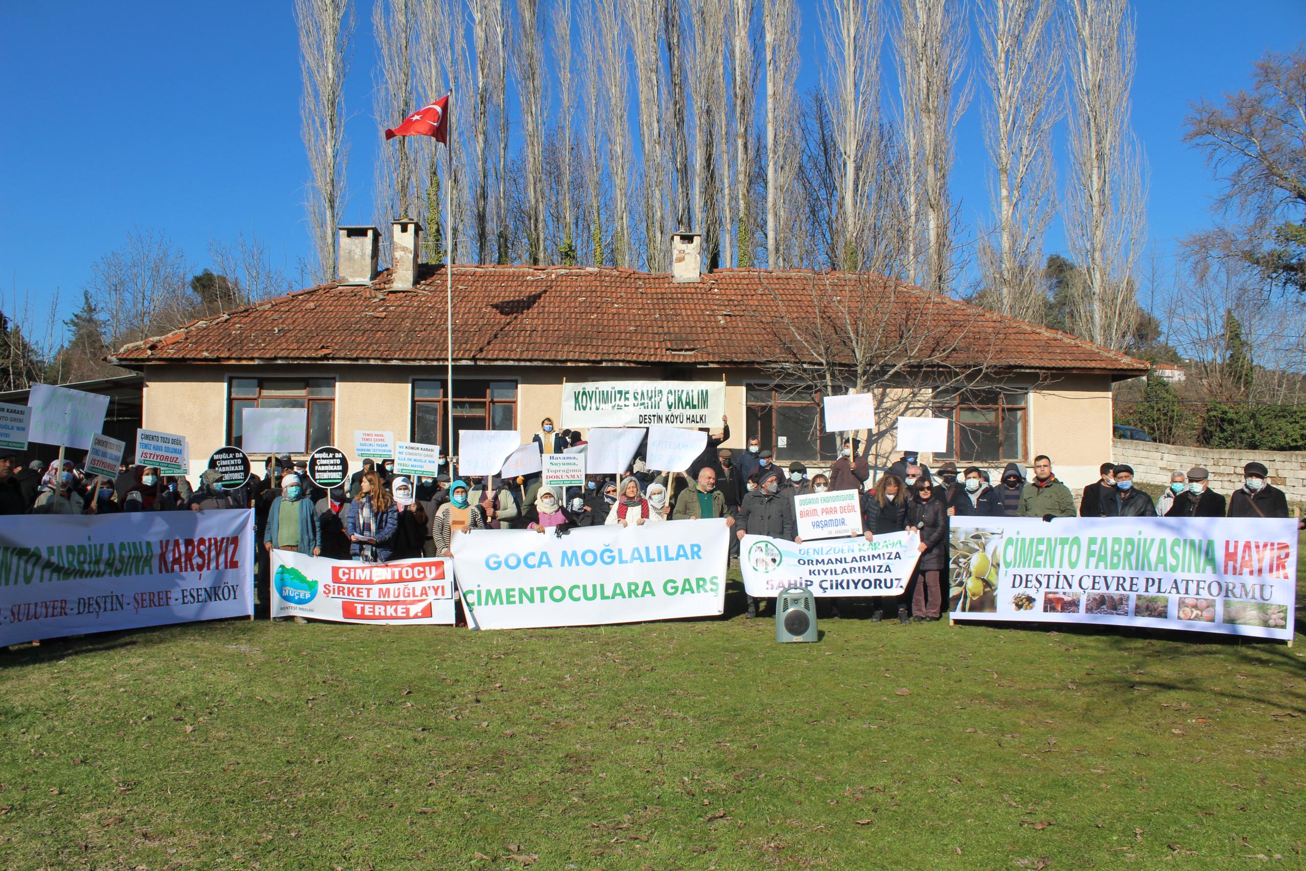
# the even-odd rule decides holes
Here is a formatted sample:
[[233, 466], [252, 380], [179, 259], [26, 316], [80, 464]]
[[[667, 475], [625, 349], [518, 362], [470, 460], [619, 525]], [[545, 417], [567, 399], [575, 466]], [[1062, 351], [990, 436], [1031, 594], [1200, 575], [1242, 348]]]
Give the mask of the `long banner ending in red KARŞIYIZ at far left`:
[[251, 614], [251, 509], [0, 522], [0, 645]]

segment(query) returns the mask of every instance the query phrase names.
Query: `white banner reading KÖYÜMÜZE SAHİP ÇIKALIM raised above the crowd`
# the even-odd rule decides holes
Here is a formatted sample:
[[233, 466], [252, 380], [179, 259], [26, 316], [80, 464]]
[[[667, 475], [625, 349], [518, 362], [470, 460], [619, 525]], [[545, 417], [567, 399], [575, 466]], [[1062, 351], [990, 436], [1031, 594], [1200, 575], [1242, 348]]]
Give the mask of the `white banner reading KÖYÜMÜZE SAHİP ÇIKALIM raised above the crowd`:
[[568, 381], [562, 426], [718, 427], [726, 413], [725, 381]]

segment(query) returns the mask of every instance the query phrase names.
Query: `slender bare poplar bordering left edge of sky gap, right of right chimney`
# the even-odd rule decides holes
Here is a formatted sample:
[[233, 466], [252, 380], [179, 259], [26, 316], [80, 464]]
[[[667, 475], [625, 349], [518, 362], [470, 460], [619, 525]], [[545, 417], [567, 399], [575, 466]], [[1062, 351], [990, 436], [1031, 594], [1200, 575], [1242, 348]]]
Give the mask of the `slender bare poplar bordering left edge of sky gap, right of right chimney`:
[[788, 230], [798, 171], [798, 140], [789, 116], [798, 102], [799, 17], [794, 0], [763, 0], [767, 64], [767, 269], [782, 269], [780, 231]]

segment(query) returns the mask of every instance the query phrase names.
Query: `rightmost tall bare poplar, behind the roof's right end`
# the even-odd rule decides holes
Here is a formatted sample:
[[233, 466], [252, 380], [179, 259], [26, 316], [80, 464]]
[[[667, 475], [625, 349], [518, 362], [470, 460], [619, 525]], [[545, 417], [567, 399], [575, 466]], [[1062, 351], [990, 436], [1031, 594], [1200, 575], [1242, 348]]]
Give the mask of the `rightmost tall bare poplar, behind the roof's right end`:
[[1143, 158], [1130, 128], [1134, 21], [1127, 0], [1070, 0], [1070, 179], [1066, 238], [1084, 281], [1076, 332], [1121, 349], [1134, 330], [1144, 235]]

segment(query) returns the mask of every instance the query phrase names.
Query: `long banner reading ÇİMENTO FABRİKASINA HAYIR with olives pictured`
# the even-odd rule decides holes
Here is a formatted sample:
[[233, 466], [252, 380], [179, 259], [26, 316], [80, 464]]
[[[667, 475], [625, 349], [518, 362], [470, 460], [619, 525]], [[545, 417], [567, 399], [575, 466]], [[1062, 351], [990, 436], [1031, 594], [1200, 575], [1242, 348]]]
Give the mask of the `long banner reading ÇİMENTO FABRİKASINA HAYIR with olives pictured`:
[[955, 620], [1292, 639], [1297, 521], [953, 517]]

